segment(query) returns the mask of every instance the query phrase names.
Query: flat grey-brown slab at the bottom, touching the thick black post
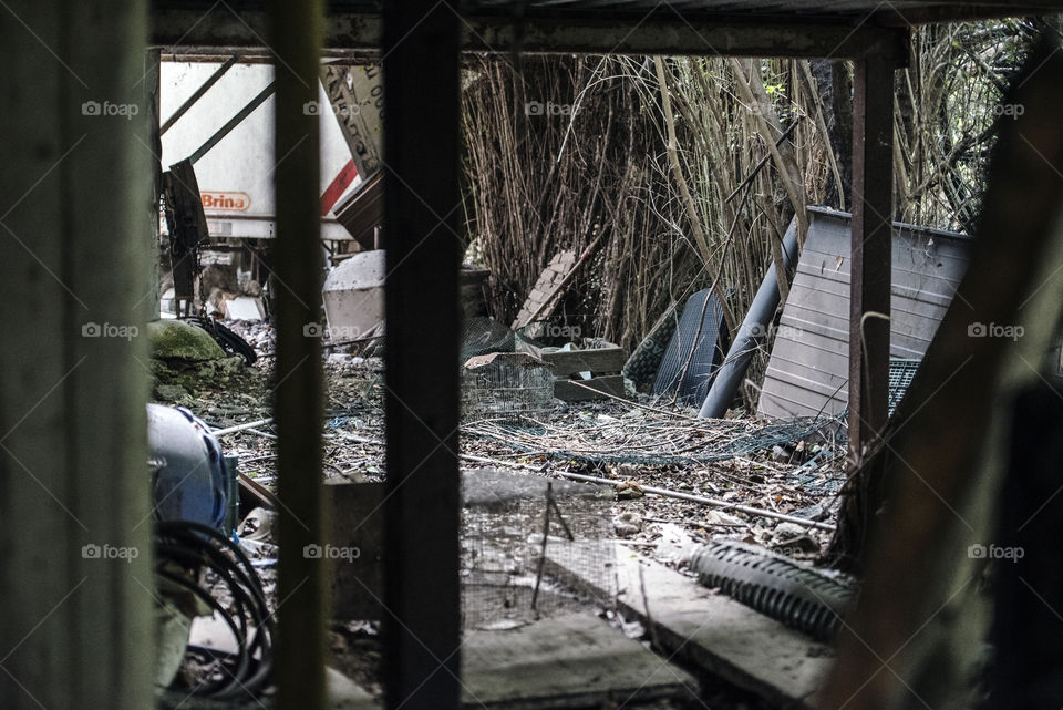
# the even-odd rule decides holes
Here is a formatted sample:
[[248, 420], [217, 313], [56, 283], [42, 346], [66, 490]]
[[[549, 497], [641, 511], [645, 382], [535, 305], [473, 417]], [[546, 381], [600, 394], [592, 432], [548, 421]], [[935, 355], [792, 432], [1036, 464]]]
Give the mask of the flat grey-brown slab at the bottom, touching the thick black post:
[[596, 616], [572, 614], [506, 630], [468, 631], [462, 704], [488, 710], [619, 707], [694, 698], [696, 683]]

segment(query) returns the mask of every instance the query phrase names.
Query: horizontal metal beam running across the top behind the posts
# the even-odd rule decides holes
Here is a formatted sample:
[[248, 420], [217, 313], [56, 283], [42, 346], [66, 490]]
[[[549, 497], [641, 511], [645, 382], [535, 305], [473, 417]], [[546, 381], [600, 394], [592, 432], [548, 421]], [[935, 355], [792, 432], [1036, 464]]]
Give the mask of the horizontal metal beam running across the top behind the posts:
[[[894, 64], [908, 58], [908, 28], [870, 24], [743, 24], [712, 21], [687, 23], [673, 20], [638, 22], [623, 19], [527, 19], [519, 28], [508, 18], [465, 18], [462, 49], [475, 52], [528, 53], [586, 52], [591, 54], [695, 54], [731, 56], [881, 58]], [[333, 12], [324, 39], [324, 56], [376, 51], [380, 17]], [[164, 55], [202, 55], [265, 47], [265, 16], [257, 10], [237, 17], [227, 7], [202, 11], [155, 9], [152, 43]]]

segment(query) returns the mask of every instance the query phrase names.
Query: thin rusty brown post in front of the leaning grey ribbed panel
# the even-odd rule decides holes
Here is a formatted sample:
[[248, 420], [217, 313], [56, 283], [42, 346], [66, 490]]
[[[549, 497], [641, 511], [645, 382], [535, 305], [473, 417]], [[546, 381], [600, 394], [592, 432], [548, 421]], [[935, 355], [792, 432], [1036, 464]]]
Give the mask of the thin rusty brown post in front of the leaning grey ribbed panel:
[[894, 63], [853, 62], [849, 466], [888, 419]]

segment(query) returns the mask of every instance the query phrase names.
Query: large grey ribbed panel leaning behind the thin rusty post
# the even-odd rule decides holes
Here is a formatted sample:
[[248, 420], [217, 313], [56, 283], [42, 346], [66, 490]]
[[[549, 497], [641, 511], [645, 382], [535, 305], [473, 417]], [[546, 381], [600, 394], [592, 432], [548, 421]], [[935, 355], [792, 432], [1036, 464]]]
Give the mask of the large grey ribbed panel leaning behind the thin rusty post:
[[[837, 414], [848, 399], [849, 214], [809, 210], [757, 412]], [[971, 238], [894, 224], [890, 356], [921, 359], [967, 271]]]

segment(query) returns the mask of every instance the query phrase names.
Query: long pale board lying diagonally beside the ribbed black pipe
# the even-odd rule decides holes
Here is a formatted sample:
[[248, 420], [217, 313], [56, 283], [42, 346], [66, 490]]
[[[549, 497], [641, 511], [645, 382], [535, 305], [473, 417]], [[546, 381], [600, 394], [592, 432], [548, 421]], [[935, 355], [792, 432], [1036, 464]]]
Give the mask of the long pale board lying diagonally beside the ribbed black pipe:
[[[564, 558], [551, 557], [549, 550], [547, 558], [555, 573], [571, 580], [574, 572], [565, 566]], [[651, 635], [662, 650], [773, 706], [815, 707], [834, 660], [826, 644], [718, 595], [629, 547], [619, 545], [617, 558], [619, 609], [652, 628]], [[599, 591], [588, 580], [576, 584]]]

